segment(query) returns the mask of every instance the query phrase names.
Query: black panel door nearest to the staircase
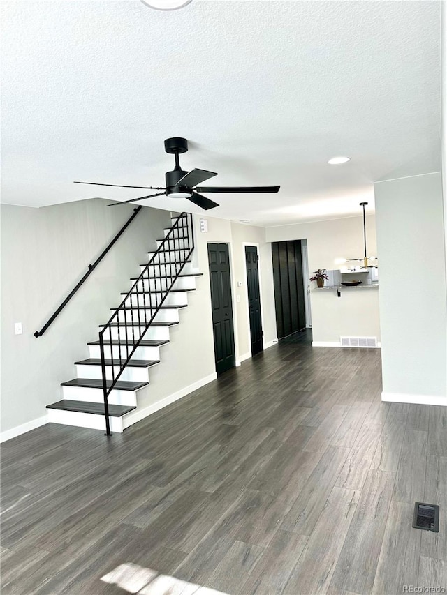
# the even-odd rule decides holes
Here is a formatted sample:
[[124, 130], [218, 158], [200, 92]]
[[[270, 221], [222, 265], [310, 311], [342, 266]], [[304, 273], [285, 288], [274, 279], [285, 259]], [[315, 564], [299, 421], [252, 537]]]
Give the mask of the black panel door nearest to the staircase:
[[216, 371], [221, 374], [229, 368], [234, 368], [236, 363], [228, 244], [209, 243], [208, 262], [210, 264], [214, 356]]

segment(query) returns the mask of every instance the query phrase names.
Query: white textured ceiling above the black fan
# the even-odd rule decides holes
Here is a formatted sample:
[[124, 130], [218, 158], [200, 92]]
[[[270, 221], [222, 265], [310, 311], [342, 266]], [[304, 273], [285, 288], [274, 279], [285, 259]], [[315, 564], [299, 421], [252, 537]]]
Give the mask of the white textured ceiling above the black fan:
[[[440, 169], [439, 1], [1, 10], [3, 202], [144, 195], [72, 182], [164, 186], [170, 136], [190, 141], [183, 169], [219, 172], [210, 185], [281, 185], [209, 195], [221, 204], [210, 215], [256, 225], [359, 214], [361, 200], [373, 207], [373, 181]], [[327, 164], [340, 154], [351, 161]]]

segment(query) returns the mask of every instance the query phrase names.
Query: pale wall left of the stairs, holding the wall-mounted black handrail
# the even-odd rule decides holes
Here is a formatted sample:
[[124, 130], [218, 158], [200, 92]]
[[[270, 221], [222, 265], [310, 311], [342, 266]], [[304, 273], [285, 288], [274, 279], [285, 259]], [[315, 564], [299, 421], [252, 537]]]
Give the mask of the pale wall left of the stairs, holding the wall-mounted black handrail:
[[[169, 213], [143, 207], [45, 334], [34, 337], [133, 213], [92, 199], [34, 209], [1, 205], [1, 430], [33, 423], [62, 398], [60, 383], [75, 377], [74, 361], [88, 357], [119, 293]], [[22, 335], [14, 323], [22, 322]]]

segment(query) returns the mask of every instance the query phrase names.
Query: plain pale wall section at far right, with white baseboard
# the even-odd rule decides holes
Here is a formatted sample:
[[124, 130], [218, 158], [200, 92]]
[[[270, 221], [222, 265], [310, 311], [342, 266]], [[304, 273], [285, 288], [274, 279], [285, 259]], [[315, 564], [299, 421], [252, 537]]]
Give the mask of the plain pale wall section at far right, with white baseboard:
[[374, 185], [383, 399], [447, 405], [441, 174]]

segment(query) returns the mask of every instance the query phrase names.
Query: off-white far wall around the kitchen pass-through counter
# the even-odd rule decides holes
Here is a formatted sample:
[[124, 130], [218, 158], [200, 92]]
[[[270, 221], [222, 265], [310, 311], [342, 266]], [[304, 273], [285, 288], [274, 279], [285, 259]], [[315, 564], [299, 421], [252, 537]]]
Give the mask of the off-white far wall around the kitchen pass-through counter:
[[[366, 229], [368, 255], [377, 256], [374, 215], [367, 215]], [[268, 227], [265, 237], [269, 242], [307, 239], [311, 273], [316, 269], [339, 269], [337, 259], [363, 255], [363, 216]], [[339, 345], [340, 336], [376, 337], [380, 342], [377, 288], [345, 289], [338, 298], [335, 290], [316, 289], [315, 282], [309, 284], [314, 345]]]

